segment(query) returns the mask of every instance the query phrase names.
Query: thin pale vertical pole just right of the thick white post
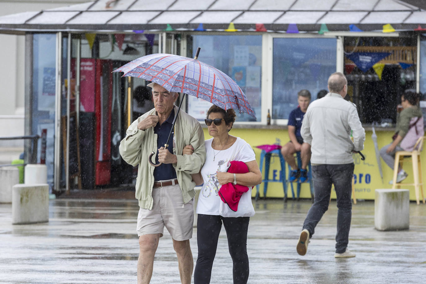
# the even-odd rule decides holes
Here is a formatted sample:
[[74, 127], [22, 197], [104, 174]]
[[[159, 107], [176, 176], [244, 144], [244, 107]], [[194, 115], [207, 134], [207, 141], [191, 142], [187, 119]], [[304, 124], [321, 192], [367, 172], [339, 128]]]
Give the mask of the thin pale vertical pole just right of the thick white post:
[[65, 189], [69, 194], [69, 111], [71, 104], [71, 34], [68, 34], [66, 50], [66, 158], [65, 158]]

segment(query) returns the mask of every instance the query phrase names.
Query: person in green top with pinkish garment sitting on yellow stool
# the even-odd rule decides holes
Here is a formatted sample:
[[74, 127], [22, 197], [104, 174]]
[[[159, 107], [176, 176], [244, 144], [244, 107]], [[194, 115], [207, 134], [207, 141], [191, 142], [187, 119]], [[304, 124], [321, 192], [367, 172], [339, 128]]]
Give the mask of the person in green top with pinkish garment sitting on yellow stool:
[[[397, 119], [395, 129], [396, 138], [394, 141], [382, 149], [380, 156], [383, 161], [391, 168], [394, 168], [395, 152], [412, 151], [417, 139], [424, 135], [423, 113], [418, 107], [419, 94], [407, 92], [401, 96], [401, 105], [403, 110]], [[408, 174], [401, 168], [398, 168], [397, 183], [403, 181]], [[392, 184], [392, 181], [389, 181]]]

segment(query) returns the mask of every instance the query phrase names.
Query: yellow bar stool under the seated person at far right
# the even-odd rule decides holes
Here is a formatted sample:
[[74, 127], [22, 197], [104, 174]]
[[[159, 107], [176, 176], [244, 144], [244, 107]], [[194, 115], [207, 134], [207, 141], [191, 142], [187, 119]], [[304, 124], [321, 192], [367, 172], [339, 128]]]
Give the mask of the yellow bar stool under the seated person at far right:
[[[420, 153], [423, 147], [423, 140], [425, 136], [420, 137], [417, 139], [417, 142], [414, 145], [414, 150], [409, 151], [397, 151], [395, 153], [395, 164], [394, 164], [394, 178], [393, 178], [393, 184], [392, 189], [395, 189], [396, 187], [400, 188], [401, 185], [411, 185], [414, 186], [414, 192], [416, 194], [416, 201], [417, 205], [420, 204], [419, 201], [419, 188], [422, 192], [422, 200], [423, 203], [425, 203], [425, 198], [423, 196], [423, 178], [422, 178], [422, 165], [420, 161]], [[414, 184], [407, 184], [407, 183], [397, 183], [397, 175], [398, 175], [398, 166], [402, 168], [404, 163], [404, 158], [412, 158], [412, 164], [413, 164], [413, 176], [414, 176]]]

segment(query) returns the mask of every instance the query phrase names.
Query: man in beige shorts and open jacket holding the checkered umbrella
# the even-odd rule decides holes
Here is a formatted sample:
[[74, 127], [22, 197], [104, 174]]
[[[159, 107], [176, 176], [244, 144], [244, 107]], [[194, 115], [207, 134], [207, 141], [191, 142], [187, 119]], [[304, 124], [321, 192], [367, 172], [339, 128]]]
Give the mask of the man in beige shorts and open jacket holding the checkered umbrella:
[[[139, 165], [136, 179], [136, 199], [140, 207], [138, 283], [151, 280], [154, 255], [164, 227], [173, 238], [181, 283], [190, 283], [193, 258], [189, 239], [193, 231], [195, 196], [191, 174], [200, 171], [206, 158], [204, 132], [195, 118], [180, 111], [169, 146], [164, 149], [177, 113], [174, 103], [178, 93], [169, 92], [156, 83], [147, 86], [153, 88], [154, 109], [135, 120], [120, 143], [124, 161]], [[189, 144], [194, 148], [193, 155], [179, 155]], [[155, 162], [162, 164], [154, 167], [148, 164], [148, 158], [157, 149]]]

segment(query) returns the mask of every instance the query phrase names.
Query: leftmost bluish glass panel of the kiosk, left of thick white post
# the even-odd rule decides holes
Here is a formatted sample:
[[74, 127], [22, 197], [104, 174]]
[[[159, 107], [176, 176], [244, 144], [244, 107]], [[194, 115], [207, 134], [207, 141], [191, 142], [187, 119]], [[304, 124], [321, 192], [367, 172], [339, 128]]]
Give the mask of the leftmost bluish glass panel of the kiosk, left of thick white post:
[[[46, 166], [50, 188], [55, 148], [55, 54], [56, 34], [33, 35], [32, 134], [41, 135], [42, 129], [47, 129]], [[37, 163], [40, 163], [41, 139], [38, 143]]]

